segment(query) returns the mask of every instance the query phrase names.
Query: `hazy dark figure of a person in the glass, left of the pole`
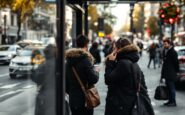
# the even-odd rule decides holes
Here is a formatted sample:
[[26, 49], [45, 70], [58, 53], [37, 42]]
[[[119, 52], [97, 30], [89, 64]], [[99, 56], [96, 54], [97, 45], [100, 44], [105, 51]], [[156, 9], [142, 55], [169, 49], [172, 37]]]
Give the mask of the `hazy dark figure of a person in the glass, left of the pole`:
[[55, 61], [56, 47], [48, 45], [44, 49], [45, 62], [32, 71], [31, 79], [37, 84], [35, 115], [56, 114]]

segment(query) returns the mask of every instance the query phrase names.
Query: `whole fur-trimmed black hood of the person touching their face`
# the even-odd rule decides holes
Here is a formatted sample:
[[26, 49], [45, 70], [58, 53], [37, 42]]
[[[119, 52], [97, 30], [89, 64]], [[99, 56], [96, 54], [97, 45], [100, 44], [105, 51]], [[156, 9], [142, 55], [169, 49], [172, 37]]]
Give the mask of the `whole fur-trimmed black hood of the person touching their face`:
[[129, 59], [132, 62], [137, 62], [139, 60], [139, 48], [134, 45], [128, 45], [118, 50], [117, 52], [117, 60], [121, 59]]

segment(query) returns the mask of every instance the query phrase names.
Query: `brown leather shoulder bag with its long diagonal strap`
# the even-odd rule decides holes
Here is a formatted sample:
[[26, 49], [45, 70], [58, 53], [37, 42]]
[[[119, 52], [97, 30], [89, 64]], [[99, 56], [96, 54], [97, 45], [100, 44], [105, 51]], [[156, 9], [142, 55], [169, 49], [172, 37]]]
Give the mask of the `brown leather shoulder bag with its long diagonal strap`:
[[98, 94], [97, 88], [94, 85], [91, 88], [85, 88], [84, 84], [80, 80], [78, 73], [76, 72], [76, 69], [74, 67], [72, 67], [72, 70], [73, 70], [73, 73], [75, 74], [75, 77], [78, 80], [78, 82], [82, 88], [82, 91], [85, 94], [85, 98], [86, 98], [85, 107], [87, 107], [89, 109], [97, 107], [100, 104], [100, 96]]

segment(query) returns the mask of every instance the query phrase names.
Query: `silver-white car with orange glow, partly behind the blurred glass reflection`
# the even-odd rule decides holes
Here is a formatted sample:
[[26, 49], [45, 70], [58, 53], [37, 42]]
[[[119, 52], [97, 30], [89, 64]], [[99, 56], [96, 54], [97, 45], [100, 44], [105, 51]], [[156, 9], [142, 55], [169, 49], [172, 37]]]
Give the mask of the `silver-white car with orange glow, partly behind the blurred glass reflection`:
[[17, 75], [29, 76], [33, 69], [44, 63], [44, 47], [27, 46], [13, 58], [9, 65], [10, 78], [15, 79]]

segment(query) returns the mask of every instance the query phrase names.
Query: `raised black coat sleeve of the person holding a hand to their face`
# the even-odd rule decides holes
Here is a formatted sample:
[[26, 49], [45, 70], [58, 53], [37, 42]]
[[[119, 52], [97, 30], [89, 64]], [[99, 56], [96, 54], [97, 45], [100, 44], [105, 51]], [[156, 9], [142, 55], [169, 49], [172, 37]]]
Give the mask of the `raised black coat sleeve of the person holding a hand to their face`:
[[123, 76], [131, 74], [130, 67], [124, 62], [115, 64], [113, 61], [106, 62], [105, 84], [114, 85], [123, 79]]

